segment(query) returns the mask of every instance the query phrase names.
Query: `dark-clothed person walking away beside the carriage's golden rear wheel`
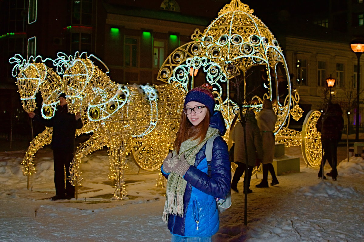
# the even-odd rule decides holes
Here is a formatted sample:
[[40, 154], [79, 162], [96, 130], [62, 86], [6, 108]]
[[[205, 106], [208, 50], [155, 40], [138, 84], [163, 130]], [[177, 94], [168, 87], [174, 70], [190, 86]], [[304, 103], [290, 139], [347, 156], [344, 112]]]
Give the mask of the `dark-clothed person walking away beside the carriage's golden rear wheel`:
[[[343, 111], [339, 104], [328, 103], [326, 111], [320, 116], [316, 123], [316, 129], [321, 132], [321, 143], [323, 148], [323, 158], [321, 160], [318, 177], [323, 176], [323, 167], [328, 160], [332, 171], [332, 180], [337, 179], [337, 144], [343, 132], [344, 119]], [[324, 177], [325, 178], [325, 177]]]

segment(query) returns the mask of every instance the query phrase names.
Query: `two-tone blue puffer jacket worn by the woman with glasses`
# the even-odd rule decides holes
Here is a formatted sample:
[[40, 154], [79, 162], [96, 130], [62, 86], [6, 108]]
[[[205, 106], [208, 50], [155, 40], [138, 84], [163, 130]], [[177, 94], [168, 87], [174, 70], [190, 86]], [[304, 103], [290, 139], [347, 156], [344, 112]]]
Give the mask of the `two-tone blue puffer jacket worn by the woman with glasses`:
[[[220, 135], [226, 132], [222, 114], [215, 111], [210, 118], [210, 127], [217, 128]], [[171, 234], [181, 237], [209, 237], [219, 229], [219, 214], [215, 197], [226, 197], [230, 191], [231, 166], [226, 142], [217, 137], [213, 143], [211, 176], [207, 176], [205, 155], [206, 144], [196, 154], [194, 166], [185, 176], [187, 181], [183, 197], [183, 217], [169, 215], [168, 229]], [[168, 179], [168, 174], [162, 174]]]

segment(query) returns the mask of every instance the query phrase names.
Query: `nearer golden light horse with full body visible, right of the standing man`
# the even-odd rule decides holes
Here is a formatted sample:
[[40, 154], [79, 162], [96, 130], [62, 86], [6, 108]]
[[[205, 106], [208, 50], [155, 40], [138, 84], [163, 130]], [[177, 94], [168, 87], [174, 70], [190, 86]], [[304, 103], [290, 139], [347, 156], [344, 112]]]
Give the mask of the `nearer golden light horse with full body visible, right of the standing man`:
[[93, 55], [78, 52], [74, 57], [58, 53], [55, 60], [67, 87], [69, 111], [78, 112], [82, 103], [88, 103], [87, 116], [94, 130], [76, 152], [70, 167], [70, 180], [75, 186], [82, 182], [81, 158], [107, 146], [109, 178], [116, 181], [113, 198], [123, 199], [126, 198], [125, 156], [130, 153], [145, 170], [156, 170], [161, 166], [171, 148], [171, 137], [177, 132], [185, 93], [176, 84], [157, 87], [117, 84], [106, 75], [108, 71], [100, 70], [90, 57], [102, 63]]

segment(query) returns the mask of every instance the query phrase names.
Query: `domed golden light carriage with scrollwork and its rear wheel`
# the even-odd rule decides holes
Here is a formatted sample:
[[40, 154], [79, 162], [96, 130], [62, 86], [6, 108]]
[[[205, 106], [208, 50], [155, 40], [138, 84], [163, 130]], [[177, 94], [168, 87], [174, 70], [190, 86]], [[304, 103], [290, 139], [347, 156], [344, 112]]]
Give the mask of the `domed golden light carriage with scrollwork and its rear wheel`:
[[225, 118], [228, 132], [224, 138], [229, 147], [232, 145], [229, 131], [238, 109], [230, 97], [234, 91], [231, 82], [242, 79], [243, 108], [251, 108], [249, 103], [255, 99], [258, 105], [253, 108], [258, 112], [262, 100], [271, 99], [278, 116], [276, 142], [286, 146], [302, 143], [305, 162], [316, 167], [321, 162], [321, 143], [314, 124], [320, 115], [310, 112], [302, 132], [288, 128], [290, 118], [302, 117], [299, 95], [292, 93], [287, 63], [278, 41], [253, 11], [239, 0], [226, 4], [203, 32], [196, 29], [192, 41], [167, 57], [157, 79], [169, 84], [177, 82], [188, 91], [197, 86], [195, 74], [202, 75], [203, 81], [214, 87], [216, 109]]

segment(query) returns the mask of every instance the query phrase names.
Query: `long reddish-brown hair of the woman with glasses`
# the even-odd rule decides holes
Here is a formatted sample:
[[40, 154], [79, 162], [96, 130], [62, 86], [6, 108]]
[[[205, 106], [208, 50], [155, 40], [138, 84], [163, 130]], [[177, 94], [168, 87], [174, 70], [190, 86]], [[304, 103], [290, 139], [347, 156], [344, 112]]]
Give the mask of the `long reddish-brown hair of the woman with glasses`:
[[210, 112], [206, 112], [205, 118], [202, 120], [201, 123], [194, 126], [190, 120], [188, 120], [187, 115], [182, 112], [181, 120], [179, 122], [179, 130], [177, 132], [177, 138], [173, 143], [173, 148], [179, 153], [179, 148], [183, 141], [194, 138], [200, 139], [200, 143], [203, 139], [205, 139], [207, 130], [209, 129], [210, 125]]

